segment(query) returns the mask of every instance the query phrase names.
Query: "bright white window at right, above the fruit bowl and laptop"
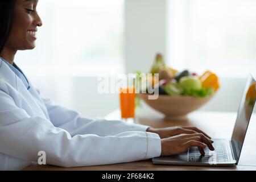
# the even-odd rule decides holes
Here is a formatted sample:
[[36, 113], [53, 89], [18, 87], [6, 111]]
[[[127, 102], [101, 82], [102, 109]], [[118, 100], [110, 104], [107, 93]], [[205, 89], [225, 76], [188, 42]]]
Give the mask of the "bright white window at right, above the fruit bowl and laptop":
[[170, 65], [227, 77], [255, 75], [255, 0], [169, 2]]

